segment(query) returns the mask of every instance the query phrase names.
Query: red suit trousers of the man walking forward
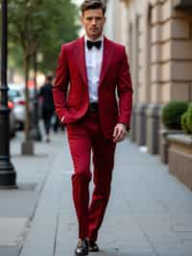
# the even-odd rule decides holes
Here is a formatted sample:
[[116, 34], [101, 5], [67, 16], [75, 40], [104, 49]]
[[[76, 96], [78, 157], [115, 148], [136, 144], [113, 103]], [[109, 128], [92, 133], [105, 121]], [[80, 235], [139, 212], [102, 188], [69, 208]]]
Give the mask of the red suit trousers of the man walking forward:
[[[75, 170], [72, 175], [72, 187], [79, 221], [79, 238], [96, 241], [108, 205], [115, 143], [104, 138], [98, 112], [89, 111], [77, 123], [68, 124], [67, 134]], [[91, 149], [94, 191], [89, 205]]]

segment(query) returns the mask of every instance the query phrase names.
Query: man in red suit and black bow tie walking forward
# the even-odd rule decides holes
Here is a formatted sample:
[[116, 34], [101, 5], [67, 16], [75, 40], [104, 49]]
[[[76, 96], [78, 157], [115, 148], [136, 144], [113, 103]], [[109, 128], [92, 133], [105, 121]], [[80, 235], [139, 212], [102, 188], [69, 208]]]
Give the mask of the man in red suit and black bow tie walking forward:
[[[74, 164], [79, 221], [75, 254], [87, 255], [88, 250], [99, 250], [96, 241], [108, 204], [115, 145], [130, 127], [132, 81], [125, 47], [103, 35], [106, 6], [101, 0], [84, 0], [81, 11], [85, 35], [62, 45], [53, 92]], [[91, 150], [94, 191], [89, 205]]]

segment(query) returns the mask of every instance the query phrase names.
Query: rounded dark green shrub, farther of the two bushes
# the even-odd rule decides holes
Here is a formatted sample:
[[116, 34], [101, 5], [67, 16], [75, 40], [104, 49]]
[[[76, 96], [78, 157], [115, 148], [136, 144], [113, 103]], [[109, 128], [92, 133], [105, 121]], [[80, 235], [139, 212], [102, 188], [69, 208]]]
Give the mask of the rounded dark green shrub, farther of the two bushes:
[[162, 109], [161, 120], [168, 129], [180, 130], [180, 117], [188, 108], [187, 102], [171, 101]]

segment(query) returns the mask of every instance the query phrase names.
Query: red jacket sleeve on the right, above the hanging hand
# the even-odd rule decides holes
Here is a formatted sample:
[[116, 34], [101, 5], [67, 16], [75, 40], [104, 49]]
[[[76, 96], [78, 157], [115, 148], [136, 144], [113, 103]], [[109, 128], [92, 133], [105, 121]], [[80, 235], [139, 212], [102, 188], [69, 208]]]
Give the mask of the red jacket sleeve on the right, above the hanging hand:
[[117, 91], [119, 96], [118, 122], [124, 123], [127, 130], [130, 130], [132, 114], [132, 78], [125, 47], [123, 49], [123, 57], [119, 69]]

